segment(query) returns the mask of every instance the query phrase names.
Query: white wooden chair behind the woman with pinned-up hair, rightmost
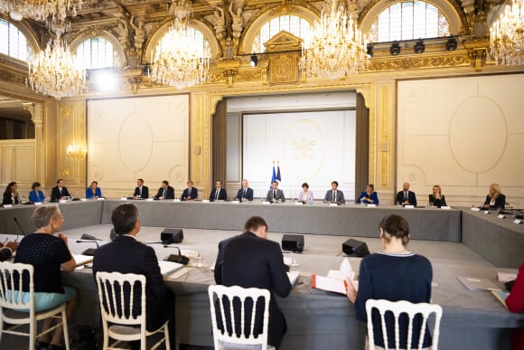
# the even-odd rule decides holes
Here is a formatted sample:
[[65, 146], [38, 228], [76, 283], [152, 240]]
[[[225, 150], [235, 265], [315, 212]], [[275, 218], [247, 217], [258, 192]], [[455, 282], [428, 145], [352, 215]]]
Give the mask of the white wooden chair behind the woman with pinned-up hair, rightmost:
[[416, 315], [422, 316], [422, 325], [420, 327], [420, 336], [418, 338], [418, 344], [416, 348], [418, 350], [422, 349], [422, 343], [424, 342], [424, 336], [426, 333], [426, 323], [427, 318], [435, 313], [435, 327], [433, 329], [433, 344], [431, 345], [432, 350], [437, 350], [438, 348], [438, 336], [440, 333], [440, 319], [442, 318], [442, 307], [435, 304], [427, 303], [418, 303], [413, 304], [406, 300], [400, 301], [389, 301], [384, 299], [369, 299], [366, 301], [366, 314], [368, 317], [368, 341], [370, 342], [370, 350], [375, 349], [375, 338], [373, 337], [373, 322], [371, 318], [371, 311], [373, 308], [377, 308], [380, 314], [380, 321], [382, 324], [382, 335], [384, 336], [384, 347], [388, 350], [388, 332], [387, 325], [385, 320], [385, 315], [387, 312], [391, 312], [395, 318], [395, 348], [396, 350], [400, 349], [400, 338], [399, 326], [398, 326], [398, 317], [401, 314], [406, 314], [409, 320], [407, 326], [407, 349], [412, 349], [411, 338], [413, 336], [413, 319]]

